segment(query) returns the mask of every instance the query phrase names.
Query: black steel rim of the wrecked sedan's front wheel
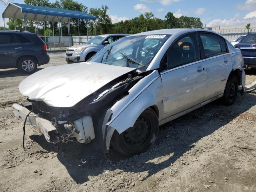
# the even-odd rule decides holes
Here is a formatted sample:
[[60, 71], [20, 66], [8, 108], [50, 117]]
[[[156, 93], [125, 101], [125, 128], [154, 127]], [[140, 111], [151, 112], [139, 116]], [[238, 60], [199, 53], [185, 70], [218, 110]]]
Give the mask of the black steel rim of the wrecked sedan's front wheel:
[[140, 116], [134, 126], [124, 132], [124, 144], [128, 148], [138, 148], [150, 139], [151, 134], [152, 124], [150, 119]]

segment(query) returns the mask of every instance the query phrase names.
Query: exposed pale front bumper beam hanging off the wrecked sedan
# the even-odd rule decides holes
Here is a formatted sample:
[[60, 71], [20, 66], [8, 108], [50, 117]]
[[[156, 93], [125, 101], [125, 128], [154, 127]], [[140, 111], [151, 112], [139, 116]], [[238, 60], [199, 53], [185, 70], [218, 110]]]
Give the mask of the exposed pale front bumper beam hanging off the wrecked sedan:
[[[30, 110], [28, 110], [28, 108], [24, 106], [21, 106], [19, 104], [12, 105], [14, 116], [21, 118], [23, 121], [25, 121], [26, 116], [30, 112]], [[46, 141], [48, 141], [49, 143], [56, 144], [60, 142], [60, 139], [57, 134], [58, 131], [55, 128], [55, 126], [53, 126], [50, 121], [37, 116], [37, 114], [34, 114], [33, 112], [31, 112], [28, 115], [26, 124], [38, 126], [40, 132], [44, 135]]]

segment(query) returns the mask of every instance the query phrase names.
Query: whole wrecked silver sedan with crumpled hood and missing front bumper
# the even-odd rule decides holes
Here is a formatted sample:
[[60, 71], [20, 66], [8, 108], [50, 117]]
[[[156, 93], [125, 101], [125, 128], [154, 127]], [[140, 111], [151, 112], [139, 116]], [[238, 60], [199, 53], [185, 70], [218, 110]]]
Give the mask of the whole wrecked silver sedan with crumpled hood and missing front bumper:
[[156, 140], [159, 125], [213, 100], [235, 102], [245, 74], [240, 50], [202, 29], [126, 36], [88, 62], [52, 66], [19, 85], [28, 103], [15, 116], [46, 140], [94, 142], [132, 156]]

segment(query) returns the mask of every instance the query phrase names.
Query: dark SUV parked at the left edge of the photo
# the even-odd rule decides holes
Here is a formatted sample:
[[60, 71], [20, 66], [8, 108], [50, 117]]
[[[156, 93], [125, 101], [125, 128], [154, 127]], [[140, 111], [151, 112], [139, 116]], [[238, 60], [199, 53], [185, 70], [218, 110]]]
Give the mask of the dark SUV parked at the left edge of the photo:
[[24, 31], [0, 30], [0, 68], [18, 68], [26, 74], [50, 58], [47, 45], [38, 35]]

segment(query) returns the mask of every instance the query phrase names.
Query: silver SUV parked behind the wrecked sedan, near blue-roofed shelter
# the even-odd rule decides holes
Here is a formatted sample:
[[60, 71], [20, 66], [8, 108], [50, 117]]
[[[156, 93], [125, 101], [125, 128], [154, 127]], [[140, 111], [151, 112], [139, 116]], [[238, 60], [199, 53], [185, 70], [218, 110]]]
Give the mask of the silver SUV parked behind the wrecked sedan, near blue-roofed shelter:
[[128, 34], [98, 35], [82, 45], [69, 47], [66, 50], [66, 61], [68, 63], [87, 61], [106, 45], [124, 36]]

